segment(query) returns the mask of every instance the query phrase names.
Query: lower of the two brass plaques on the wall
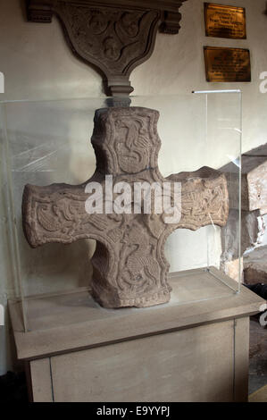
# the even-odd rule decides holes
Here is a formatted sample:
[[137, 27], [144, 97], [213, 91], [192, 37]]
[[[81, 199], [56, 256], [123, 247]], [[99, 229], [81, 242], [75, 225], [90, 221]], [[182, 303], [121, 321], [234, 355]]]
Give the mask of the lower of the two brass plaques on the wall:
[[204, 46], [204, 61], [207, 81], [251, 81], [247, 49]]

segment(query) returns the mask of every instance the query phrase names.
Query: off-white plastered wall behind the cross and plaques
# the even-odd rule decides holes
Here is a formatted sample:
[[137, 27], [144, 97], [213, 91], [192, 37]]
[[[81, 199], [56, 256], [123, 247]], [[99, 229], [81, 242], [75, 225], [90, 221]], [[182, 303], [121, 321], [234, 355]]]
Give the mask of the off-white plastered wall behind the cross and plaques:
[[[204, 2], [188, 0], [181, 8], [183, 18], [179, 35], [158, 34], [154, 54], [133, 71], [130, 77], [135, 95], [165, 96], [147, 99], [146, 103], [161, 111], [159, 132], [163, 147], [159, 164], [164, 175], [186, 169], [195, 170], [200, 164], [200, 154], [197, 153], [196, 145], [188, 145], [188, 140], [192, 141], [192, 133], [197, 136], [199, 142], [204, 136], [203, 130], [197, 132], [197, 127], [203, 123], [200, 117], [203, 113], [202, 105], [198, 108], [194, 108], [194, 105], [196, 112], [190, 115], [190, 100], [183, 97], [175, 99], [173, 95], [190, 94], [194, 89], [241, 88], [244, 94], [243, 151], [267, 141], [267, 95], [259, 91], [259, 75], [262, 71], [267, 71], [267, 16], [264, 14], [266, 2], [220, 0], [218, 3], [246, 7], [247, 40], [205, 38]], [[52, 24], [29, 23], [25, 19], [23, 4], [20, 0], [0, 0], [0, 71], [5, 76], [5, 93], [0, 94], [0, 99], [53, 100], [103, 96], [100, 76], [71, 54], [58, 21], [54, 18]], [[252, 82], [205, 82], [204, 45], [248, 47], [252, 58]], [[166, 95], [172, 97], [168, 99]], [[101, 104], [101, 101], [98, 101], [99, 103]], [[43, 106], [42, 118], [38, 113], [38, 106]], [[60, 156], [60, 167], [65, 177], [63, 181], [84, 181], [94, 171], [95, 165], [93, 150], [88, 144], [91, 130], [89, 115], [93, 110], [94, 105], [90, 101], [63, 102], [60, 106], [53, 105], [52, 102], [46, 105], [9, 105], [9, 137], [15, 154], [19, 155], [18, 162], [15, 162], [21, 166], [31, 164], [30, 167], [34, 170], [34, 156], [25, 162], [20, 157], [27, 139], [29, 148], [35, 144], [41, 145], [37, 159], [45, 155], [47, 150], [48, 153], [56, 152], [53, 158], [46, 161], [46, 169], [55, 171], [56, 165], [59, 164], [57, 156]], [[173, 124], [170, 115], [176, 110], [177, 122]], [[221, 115], [225, 112], [226, 106], [221, 106]], [[57, 153], [59, 145], [62, 145], [61, 154]], [[219, 147], [219, 143], [213, 147], [213, 155], [221, 156], [223, 163], [226, 151], [219, 150]], [[219, 165], [220, 162], [216, 164]], [[56, 172], [52, 172], [52, 176], [53, 173], [56, 178]], [[34, 175], [32, 171], [29, 176], [40, 176], [39, 181], [46, 181], [44, 172]], [[21, 178], [21, 185], [23, 181]], [[16, 197], [15, 206], [19, 215], [20, 195]], [[1, 209], [1, 230], [0, 304], [5, 306], [6, 299], [13, 295], [16, 284], [13, 262], [8, 254], [8, 227], [4, 208]], [[206, 241], [206, 232], [209, 230], [210, 228], [200, 230], [196, 234], [177, 231], [171, 236], [166, 246], [166, 255], [171, 261], [172, 271], [203, 265], [206, 250], [202, 244]], [[210, 238], [212, 262], [218, 264], [220, 231], [217, 229]], [[46, 249], [37, 250], [33, 258], [31, 250], [27, 248], [26, 243], [23, 244], [23, 240], [21, 236], [26, 292], [70, 289], [88, 284], [88, 257], [94, 249], [92, 243], [82, 245], [80, 242], [66, 248], [54, 244]], [[78, 262], [77, 256], [80, 255], [83, 256], [82, 265]], [[33, 259], [35, 261], [29, 264]], [[7, 329], [2, 328], [0, 374], [4, 374], [6, 368], [11, 365], [6, 337]]]

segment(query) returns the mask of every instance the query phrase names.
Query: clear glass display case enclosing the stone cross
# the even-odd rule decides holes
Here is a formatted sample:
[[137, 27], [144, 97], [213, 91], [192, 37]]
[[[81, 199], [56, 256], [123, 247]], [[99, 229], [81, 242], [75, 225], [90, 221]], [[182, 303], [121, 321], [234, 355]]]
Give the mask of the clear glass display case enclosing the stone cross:
[[[162, 145], [158, 166], [164, 178], [203, 167], [223, 174], [229, 204], [226, 211], [235, 208], [239, 218], [240, 248], [241, 92], [196, 91], [188, 95], [130, 99], [131, 107], [159, 112], [157, 130]], [[85, 298], [78, 299], [79, 307], [84, 307], [86, 313], [86, 297], [94, 275], [90, 259], [96, 250], [96, 240], [30, 248], [21, 223], [23, 189], [26, 184], [76, 185], [88, 180], [96, 170], [96, 156], [90, 143], [94, 115], [96, 109], [111, 103], [105, 97], [0, 103], [2, 217], [9, 238], [7, 254], [14, 279], [13, 298], [21, 302], [25, 332], [52, 326], [46, 313], [47, 298], [54, 299], [58, 323], [63, 323], [61, 297], [86, 292], [82, 295]], [[176, 179], [179, 181], [179, 176]], [[189, 194], [194, 203], [197, 192], [191, 189]], [[220, 199], [215, 187], [212, 194], [214, 200]], [[213, 197], [206, 208], [205, 197], [201, 204], [201, 211], [206, 212], [210, 223], [196, 230], [178, 226], [166, 241], [168, 277], [175, 278], [177, 289], [164, 305], [194, 304], [240, 291], [240, 255], [238, 279], [229, 279], [221, 270], [221, 226], [209, 210]], [[193, 209], [190, 211], [194, 213]], [[227, 223], [227, 216], [224, 222]]]

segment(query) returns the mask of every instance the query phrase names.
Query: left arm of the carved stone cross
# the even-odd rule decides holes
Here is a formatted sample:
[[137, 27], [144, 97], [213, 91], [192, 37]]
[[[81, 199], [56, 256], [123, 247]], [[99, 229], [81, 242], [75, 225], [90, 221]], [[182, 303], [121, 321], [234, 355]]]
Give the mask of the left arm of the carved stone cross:
[[77, 239], [98, 239], [107, 245], [105, 230], [120, 228], [120, 217], [88, 214], [87, 183], [78, 186], [26, 185], [22, 199], [22, 226], [30, 247], [51, 242], [70, 244]]

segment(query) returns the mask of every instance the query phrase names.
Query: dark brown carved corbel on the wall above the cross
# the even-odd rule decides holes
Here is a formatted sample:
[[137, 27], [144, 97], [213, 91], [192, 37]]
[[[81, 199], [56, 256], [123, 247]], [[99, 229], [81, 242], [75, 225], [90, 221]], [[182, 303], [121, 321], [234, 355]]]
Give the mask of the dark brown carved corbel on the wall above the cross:
[[154, 50], [156, 32], [178, 34], [187, 0], [28, 0], [28, 20], [63, 24], [71, 50], [99, 71], [107, 96], [129, 97], [129, 75]]

